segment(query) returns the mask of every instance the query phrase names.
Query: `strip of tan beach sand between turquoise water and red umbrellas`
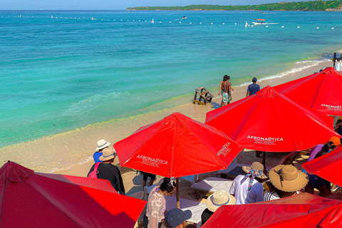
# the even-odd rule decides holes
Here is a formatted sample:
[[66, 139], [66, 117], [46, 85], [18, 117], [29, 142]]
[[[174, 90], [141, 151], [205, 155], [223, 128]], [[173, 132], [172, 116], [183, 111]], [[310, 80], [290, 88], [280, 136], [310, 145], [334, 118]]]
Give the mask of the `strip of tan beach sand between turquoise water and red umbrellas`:
[[[304, 76], [309, 76], [312, 73], [316, 73], [319, 70], [332, 66], [332, 62], [318, 63], [317, 66], [311, 66], [302, 71], [295, 73], [289, 73], [288, 75], [281, 78], [273, 78], [269, 81], [259, 81], [258, 84], [261, 88], [264, 86], [276, 86], [287, 81], [294, 80], [296, 78], [301, 78]], [[217, 78], [217, 86], [222, 80], [221, 77]], [[251, 78], [252, 81], [252, 78]], [[252, 82], [251, 82], [252, 83]], [[205, 85], [203, 85], [205, 87]], [[234, 86], [234, 92], [232, 92], [232, 102], [244, 98], [246, 96], [247, 86]], [[195, 89], [195, 88], [194, 88]], [[217, 96], [217, 90], [210, 90], [210, 93], [214, 95], [212, 103], [207, 103], [207, 105], [197, 105], [192, 103], [192, 96], [188, 98], [187, 103], [183, 105], [178, 105], [174, 108], [167, 108], [164, 110], [159, 110], [155, 112], [146, 113], [143, 115], [135, 115], [130, 118], [109, 120], [101, 125], [91, 125], [82, 128], [81, 130], [71, 130], [67, 133], [61, 133], [58, 135], [52, 135], [50, 137], [39, 138], [31, 142], [24, 142], [16, 145], [10, 145], [7, 147], [2, 147], [0, 150], [1, 160], [11, 160], [18, 162], [21, 165], [26, 166], [28, 162], [27, 157], [17, 156], [20, 154], [25, 155], [35, 155], [37, 150], [53, 150], [56, 153], [55, 157], [51, 157], [51, 166], [56, 167], [56, 172], [63, 175], [75, 175], [80, 177], [86, 177], [90, 167], [93, 165], [92, 155], [96, 147], [96, 142], [100, 139], [105, 139], [108, 142], [113, 143], [128, 137], [138, 128], [154, 123], [157, 120], [165, 118], [165, 116], [170, 115], [174, 112], [179, 112], [188, 117], [204, 123], [205, 114], [215, 108], [219, 108], [219, 103], [221, 102], [221, 97]], [[13, 153], [16, 151], [16, 153]], [[74, 165], [66, 170], [60, 170], [58, 163], [63, 162], [63, 160], [68, 160], [68, 157], [63, 157], [63, 155], [73, 156], [77, 151], [79, 157], [80, 165]], [[63, 154], [62, 156], [59, 156]], [[60, 158], [61, 157], [61, 158]], [[267, 166], [275, 166], [279, 164], [281, 157], [284, 157], [284, 153], [268, 153], [267, 154]], [[28, 166], [29, 168], [36, 170], [38, 172], [44, 172], [45, 170], [39, 169], [39, 157], [31, 156], [31, 160], [37, 160], [37, 167], [35, 165]], [[300, 158], [297, 163], [298, 168], [301, 167], [301, 162], [305, 161], [305, 157]], [[256, 157], [254, 151], [245, 151], [237, 156], [237, 162], [240, 163], [252, 163], [254, 161], [261, 162], [261, 157]], [[115, 159], [115, 164], [118, 164], [118, 158]], [[204, 179], [207, 176], [217, 176], [216, 172], [199, 175], [199, 180]], [[160, 179], [160, 177], [158, 177]], [[123, 180], [125, 185], [125, 190], [127, 195], [131, 195], [135, 192], [142, 190], [141, 182], [142, 175], [137, 175], [136, 172], [123, 173]], [[187, 182], [181, 183], [182, 197], [192, 198], [192, 191], [190, 189], [190, 184]], [[341, 193], [340, 193], [341, 195]]]

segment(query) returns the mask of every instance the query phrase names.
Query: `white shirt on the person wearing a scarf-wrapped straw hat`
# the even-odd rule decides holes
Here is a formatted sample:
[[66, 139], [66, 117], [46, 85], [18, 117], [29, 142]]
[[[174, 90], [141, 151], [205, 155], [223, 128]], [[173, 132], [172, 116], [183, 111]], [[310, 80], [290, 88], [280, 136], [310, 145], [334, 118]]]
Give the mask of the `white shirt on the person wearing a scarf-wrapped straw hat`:
[[264, 201], [264, 187], [254, 179], [251, 189], [247, 191], [249, 180], [250, 177], [246, 177], [246, 175], [238, 175], [233, 180], [229, 194], [234, 195], [237, 199], [236, 204], [249, 204], [252, 202]]

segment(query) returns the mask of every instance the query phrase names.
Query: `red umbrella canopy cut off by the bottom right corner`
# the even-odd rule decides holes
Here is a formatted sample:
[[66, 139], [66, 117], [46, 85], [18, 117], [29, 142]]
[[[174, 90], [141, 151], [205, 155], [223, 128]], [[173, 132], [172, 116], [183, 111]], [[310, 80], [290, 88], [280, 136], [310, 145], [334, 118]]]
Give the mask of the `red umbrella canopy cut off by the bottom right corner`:
[[221, 206], [205, 227], [340, 227], [342, 201], [309, 193], [272, 201]]

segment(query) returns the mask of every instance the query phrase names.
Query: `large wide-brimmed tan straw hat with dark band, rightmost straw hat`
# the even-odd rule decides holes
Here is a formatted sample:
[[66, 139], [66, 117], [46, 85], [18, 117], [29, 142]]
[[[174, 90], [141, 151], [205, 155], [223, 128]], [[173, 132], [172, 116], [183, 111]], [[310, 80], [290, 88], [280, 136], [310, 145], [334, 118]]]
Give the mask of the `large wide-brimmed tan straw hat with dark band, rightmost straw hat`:
[[269, 180], [281, 191], [296, 192], [308, 184], [309, 177], [293, 165], [278, 165], [269, 171]]

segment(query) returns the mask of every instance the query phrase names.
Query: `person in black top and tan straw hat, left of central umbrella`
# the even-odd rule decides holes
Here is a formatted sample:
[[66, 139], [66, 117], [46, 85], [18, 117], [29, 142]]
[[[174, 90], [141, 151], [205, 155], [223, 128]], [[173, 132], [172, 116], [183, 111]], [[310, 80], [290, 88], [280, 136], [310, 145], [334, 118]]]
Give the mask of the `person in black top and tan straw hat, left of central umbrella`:
[[[123, 186], [123, 178], [121, 177], [120, 170], [112, 164], [116, 157], [115, 150], [110, 147], [105, 147], [102, 152], [103, 155], [98, 158], [101, 161], [100, 165], [98, 165], [98, 179], [108, 180], [117, 192], [125, 195], [125, 187]], [[90, 172], [93, 172], [95, 164], [90, 168], [87, 176], [89, 176]]]

